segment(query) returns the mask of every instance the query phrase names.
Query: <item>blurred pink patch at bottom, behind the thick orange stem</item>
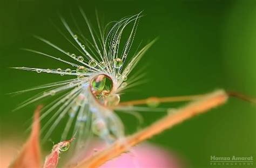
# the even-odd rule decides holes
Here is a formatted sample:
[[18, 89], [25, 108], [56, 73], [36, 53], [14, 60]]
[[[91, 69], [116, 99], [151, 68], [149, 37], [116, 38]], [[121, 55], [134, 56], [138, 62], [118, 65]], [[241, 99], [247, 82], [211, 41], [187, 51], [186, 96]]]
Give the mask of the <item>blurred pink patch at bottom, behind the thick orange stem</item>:
[[[71, 160], [72, 163], [77, 163], [82, 158], [95, 155], [96, 152], [103, 150], [103, 143], [90, 143], [90, 148], [79, 153], [77, 157]], [[117, 158], [114, 158], [101, 168], [181, 168], [184, 167], [181, 159], [169, 151], [160, 148], [159, 146], [143, 143], [134, 146], [129, 152], [123, 153]]]

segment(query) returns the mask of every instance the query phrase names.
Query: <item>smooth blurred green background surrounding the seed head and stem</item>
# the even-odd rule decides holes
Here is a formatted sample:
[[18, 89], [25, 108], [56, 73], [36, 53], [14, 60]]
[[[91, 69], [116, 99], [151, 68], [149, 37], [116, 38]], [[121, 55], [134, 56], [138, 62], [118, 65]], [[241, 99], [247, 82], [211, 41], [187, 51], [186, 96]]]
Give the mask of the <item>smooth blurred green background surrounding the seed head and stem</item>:
[[[30, 124], [29, 118], [35, 107], [42, 103], [12, 112], [18, 103], [37, 92], [7, 93], [68, 79], [67, 76], [8, 67], [63, 66], [58, 61], [19, 48], [32, 48], [59, 57], [58, 52], [32, 38], [33, 34], [72, 48], [57, 33], [52, 22], [65, 30], [59, 22], [58, 12], [69, 18], [71, 12], [78, 13], [78, 6], [84, 9], [92, 23], [95, 23], [95, 9], [104, 23], [144, 10], [145, 17], [140, 19], [133, 47], [136, 48], [141, 40], [146, 44], [159, 37], [134, 70], [147, 65], [144, 72], [148, 82], [136, 86], [134, 92], [125, 94], [122, 100], [202, 94], [217, 88], [256, 96], [256, 1], [1, 0], [1, 3], [1, 140], [12, 135], [22, 139], [27, 137], [25, 130]], [[175, 108], [181, 104], [164, 104], [162, 107]], [[255, 110], [250, 103], [230, 99], [225, 106], [179, 124], [153, 137], [150, 142], [176, 153], [191, 167], [214, 167], [209, 162], [211, 155], [256, 157]], [[145, 118], [143, 127], [165, 115], [161, 112], [141, 114]], [[121, 114], [121, 117], [127, 134], [130, 134], [138, 122], [129, 115]]]

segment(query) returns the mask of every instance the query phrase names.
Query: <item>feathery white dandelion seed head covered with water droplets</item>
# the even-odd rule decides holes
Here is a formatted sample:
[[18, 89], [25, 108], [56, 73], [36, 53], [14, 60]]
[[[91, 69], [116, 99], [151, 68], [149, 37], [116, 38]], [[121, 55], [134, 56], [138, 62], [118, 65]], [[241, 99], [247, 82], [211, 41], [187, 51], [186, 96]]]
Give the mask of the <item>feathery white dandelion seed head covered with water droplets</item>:
[[[118, 106], [120, 94], [138, 80], [136, 77], [129, 81], [130, 77], [127, 77], [154, 41], [134, 54], [129, 53], [138, 20], [141, 17], [140, 13], [114, 22], [108, 31], [103, 31], [102, 26], [98, 24], [99, 34], [95, 33], [82, 9], [80, 9], [80, 13], [90, 32], [91, 40], [85, 38], [80, 29], [78, 29], [78, 32], [76, 31], [79, 35], [78, 40], [78, 35], [73, 33], [75, 31], [71, 30], [65, 19], [60, 18], [72, 40], [62, 34], [72, 46], [75, 46], [76, 51], [63, 50], [41, 37], [36, 38], [62, 53], [63, 58], [25, 49], [65, 63], [68, 66], [65, 67], [65, 70], [61, 68], [16, 67], [17, 69], [36, 71], [37, 73], [46, 72], [71, 76], [72, 79], [35, 88], [48, 90], [44, 92], [46, 94], [39, 94], [39, 96], [37, 95], [24, 102], [21, 107], [47, 96], [57, 97], [57, 95], [60, 95], [43, 110], [41, 120], [46, 116], [51, 116], [42, 128], [42, 131], [45, 132], [44, 140], [50, 137], [60, 121], [67, 116], [69, 119], [63, 130], [62, 140], [67, 138], [73, 128], [73, 132], [77, 132], [77, 142], [85, 141], [88, 132], [92, 131], [93, 134], [111, 143], [115, 139], [124, 136], [123, 123], [118, 115], [114, 113], [113, 107]], [[124, 44], [122, 44], [122, 33], [129, 24], [132, 24], [132, 29], [128, 38], [124, 38]], [[64, 57], [69, 57], [72, 61], [67, 61]], [[66, 148], [68, 147], [65, 146], [63, 150]]]

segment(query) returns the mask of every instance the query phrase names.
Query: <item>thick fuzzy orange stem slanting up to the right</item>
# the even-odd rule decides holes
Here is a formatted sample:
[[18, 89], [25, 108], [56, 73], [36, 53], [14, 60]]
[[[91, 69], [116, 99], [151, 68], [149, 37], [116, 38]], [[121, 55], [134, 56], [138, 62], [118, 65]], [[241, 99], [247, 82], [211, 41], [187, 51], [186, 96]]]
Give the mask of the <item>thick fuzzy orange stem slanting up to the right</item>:
[[194, 101], [187, 106], [177, 109], [176, 113], [167, 115], [157, 122], [154, 122], [149, 127], [133, 134], [125, 139], [117, 141], [109, 148], [98, 152], [96, 155], [82, 160], [78, 163], [77, 168], [82, 167], [99, 167], [110, 159], [113, 159], [123, 152], [126, 152], [130, 149], [131, 146], [134, 146], [146, 139], [151, 138], [154, 135], [163, 132], [166, 129], [173, 127], [174, 125], [181, 123], [188, 118], [192, 118], [195, 115], [206, 112], [207, 110], [218, 107], [221, 104], [224, 104], [228, 99], [228, 95], [224, 90], [217, 90], [211, 94], [207, 94], [201, 97], [200, 100]]

